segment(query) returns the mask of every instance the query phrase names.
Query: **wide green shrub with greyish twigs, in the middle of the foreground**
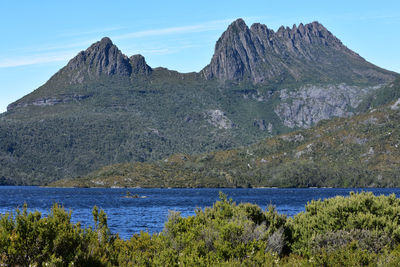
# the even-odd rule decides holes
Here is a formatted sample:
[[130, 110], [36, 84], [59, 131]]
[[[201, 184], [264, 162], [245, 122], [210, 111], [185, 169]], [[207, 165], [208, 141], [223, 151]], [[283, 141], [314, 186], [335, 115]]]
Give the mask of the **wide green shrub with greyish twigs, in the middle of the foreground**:
[[[237, 205], [223, 194], [212, 207], [197, 210], [195, 216], [182, 218], [170, 213], [163, 234], [178, 253], [191, 253], [195, 257], [210, 256], [216, 261], [242, 260], [257, 251], [265, 251], [267, 242], [278, 232], [280, 244], [268, 250], [277, 253], [285, 244], [283, 226], [286, 218], [273, 208], [245, 203]], [[277, 235], [274, 239], [277, 239]], [[276, 243], [276, 242], [275, 242]]]

